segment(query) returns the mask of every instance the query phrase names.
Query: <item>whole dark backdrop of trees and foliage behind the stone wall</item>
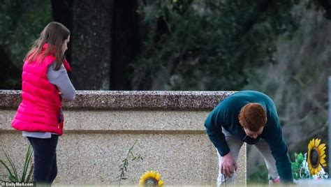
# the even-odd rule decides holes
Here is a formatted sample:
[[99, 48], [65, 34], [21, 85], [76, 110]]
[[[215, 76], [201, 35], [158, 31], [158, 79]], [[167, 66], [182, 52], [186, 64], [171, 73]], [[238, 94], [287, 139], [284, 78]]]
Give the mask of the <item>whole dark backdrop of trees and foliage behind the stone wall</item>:
[[[321, 1], [61, 2], [72, 15], [76, 88], [263, 91], [292, 158], [312, 137], [328, 140], [331, 22]], [[1, 1], [0, 89], [20, 89], [22, 59], [56, 11], [54, 1]], [[264, 180], [263, 159], [253, 147], [248, 156], [249, 180]]]

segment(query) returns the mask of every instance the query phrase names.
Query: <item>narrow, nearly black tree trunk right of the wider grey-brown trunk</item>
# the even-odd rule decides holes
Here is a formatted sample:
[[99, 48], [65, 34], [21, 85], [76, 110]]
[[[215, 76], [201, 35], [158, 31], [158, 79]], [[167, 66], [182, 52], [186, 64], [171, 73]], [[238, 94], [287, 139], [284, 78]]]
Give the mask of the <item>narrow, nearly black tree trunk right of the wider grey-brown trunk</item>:
[[137, 1], [114, 2], [112, 22], [112, 64], [110, 68], [110, 89], [131, 90], [128, 67], [139, 52], [140, 33]]

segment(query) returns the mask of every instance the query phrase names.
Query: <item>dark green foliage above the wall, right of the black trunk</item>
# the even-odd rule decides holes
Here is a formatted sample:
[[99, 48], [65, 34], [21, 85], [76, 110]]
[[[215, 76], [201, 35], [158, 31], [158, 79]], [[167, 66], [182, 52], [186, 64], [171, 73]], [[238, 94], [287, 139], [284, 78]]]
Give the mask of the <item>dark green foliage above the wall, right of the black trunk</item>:
[[[133, 89], [240, 89], [250, 70], [273, 63], [277, 37], [295, 31], [295, 3], [146, 1], [140, 13], [150, 31], [133, 63]], [[169, 32], [160, 34], [160, 19]]]

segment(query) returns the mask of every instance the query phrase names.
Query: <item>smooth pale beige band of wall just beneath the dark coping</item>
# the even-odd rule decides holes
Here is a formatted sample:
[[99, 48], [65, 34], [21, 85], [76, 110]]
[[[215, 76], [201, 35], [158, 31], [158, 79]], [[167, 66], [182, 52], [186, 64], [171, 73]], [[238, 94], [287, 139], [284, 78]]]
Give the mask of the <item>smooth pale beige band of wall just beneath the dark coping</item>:
[[[10, 130], [16, 110], [0, 110], [0, 130]], [[207, 111], [64, 110], [64, 130], [176, 130], [205, 132]], [[3, 124], [3, 125], [1, 125]], [[6, 125], [7, 124], [7, 125]]]

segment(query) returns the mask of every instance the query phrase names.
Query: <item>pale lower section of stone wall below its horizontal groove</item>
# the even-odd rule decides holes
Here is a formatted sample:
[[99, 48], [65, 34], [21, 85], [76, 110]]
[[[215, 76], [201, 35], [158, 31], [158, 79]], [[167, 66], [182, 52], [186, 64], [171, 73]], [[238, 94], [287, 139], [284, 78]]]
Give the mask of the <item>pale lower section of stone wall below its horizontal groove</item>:
[[[0, 133], [1, 149], [23, 163], [28, 141], [21, 133]], [[59, 174], [54, 184], [116, 184], [119, 165], [128, 149], [144, 160], [128, 165], [128, 180], [137, 184], [145, 170], [157, 170], [169, 185], [215, 184], [218, 174], [216, 149], [205, 134], [108, 134], [65, 133], [59, 138], [57, 163]], [[246, 147], [238, 160], [236, 184], [245, 183]], [[0, 154], [0, 158], [4, 158]], [[0, 167], [1, 168], [1, 167]], [[3, 168], [0, 169], [3, 172]]]

